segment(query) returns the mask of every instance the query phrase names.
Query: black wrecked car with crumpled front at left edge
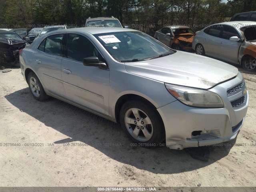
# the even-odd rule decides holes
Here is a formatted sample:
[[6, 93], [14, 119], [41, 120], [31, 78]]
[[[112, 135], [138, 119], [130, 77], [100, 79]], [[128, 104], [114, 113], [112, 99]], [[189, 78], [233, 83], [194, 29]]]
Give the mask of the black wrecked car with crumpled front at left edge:
[[15, 32], [0, 32], [1, 68], [20, 66], [19, 50], [25, 48], [26, 41]]

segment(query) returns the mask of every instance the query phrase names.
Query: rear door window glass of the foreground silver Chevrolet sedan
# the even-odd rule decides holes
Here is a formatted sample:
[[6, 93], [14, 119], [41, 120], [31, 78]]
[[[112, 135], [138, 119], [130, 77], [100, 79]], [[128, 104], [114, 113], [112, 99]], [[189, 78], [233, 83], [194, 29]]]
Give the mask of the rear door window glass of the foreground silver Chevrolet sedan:
[[62, 56], [62, 38], [64, 34], [55, 34], [48, 36], [45, 38], [40, 46], [38, 47], [38, 50], [54, 54], [57, 56]]

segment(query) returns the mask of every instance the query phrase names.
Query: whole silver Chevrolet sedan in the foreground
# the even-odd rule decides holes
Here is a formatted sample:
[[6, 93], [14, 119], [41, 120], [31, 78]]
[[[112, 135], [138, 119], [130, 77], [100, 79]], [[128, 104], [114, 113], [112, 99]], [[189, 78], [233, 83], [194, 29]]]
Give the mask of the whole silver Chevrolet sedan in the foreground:
[[36, 100], [52, 96], [120, 122], [140, 146], [232, 140], [248, 108], [237, 68], [174, 51], [132, 29], [49, 32], [22, 50], [20, 64]]

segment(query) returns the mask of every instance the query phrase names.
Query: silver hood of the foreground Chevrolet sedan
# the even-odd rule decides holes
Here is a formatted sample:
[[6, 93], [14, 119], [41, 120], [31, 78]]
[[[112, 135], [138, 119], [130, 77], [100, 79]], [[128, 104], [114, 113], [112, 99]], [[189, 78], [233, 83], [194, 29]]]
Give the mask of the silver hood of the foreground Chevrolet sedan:
[[142, 62], [126, 62], [126, 71], [165, 83], [209, 89], [237, 76], [238, 69], [224, 62], [177, 51]]

